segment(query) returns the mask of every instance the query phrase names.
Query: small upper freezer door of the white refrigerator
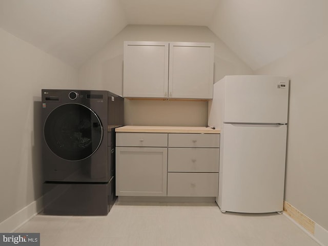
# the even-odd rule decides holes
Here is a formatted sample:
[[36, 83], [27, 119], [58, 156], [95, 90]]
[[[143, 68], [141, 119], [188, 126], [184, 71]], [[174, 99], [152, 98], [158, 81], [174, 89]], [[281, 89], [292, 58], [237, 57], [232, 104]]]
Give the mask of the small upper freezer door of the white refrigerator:
[[224, 122], [286, 123], [289, 80], [264, 75], [226, 76]]

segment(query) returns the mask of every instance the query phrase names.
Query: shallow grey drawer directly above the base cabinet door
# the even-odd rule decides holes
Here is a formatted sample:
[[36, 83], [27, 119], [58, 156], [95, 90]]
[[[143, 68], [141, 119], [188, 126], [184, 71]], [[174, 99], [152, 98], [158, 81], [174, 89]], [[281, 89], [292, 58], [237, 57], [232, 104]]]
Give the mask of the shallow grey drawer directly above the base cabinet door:
[[116, 133], [116, 146], [122, 147], [167, 147], [167, 133]]

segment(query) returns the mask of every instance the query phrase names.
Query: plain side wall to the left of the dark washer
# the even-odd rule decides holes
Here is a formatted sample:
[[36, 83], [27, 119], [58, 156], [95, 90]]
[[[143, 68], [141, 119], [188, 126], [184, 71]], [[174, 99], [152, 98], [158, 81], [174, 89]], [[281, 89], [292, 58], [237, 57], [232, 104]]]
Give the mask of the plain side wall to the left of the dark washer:
[[0, 222], [42, 195], [41, 89], [74, 88], [77, 70], [0, 29]]

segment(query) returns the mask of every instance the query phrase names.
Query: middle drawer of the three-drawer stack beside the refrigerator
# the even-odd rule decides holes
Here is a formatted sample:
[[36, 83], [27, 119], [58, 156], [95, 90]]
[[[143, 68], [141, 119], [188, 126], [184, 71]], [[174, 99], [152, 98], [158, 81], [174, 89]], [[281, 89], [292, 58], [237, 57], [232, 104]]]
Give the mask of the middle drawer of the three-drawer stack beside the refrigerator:
[[169, 172], [219, 172], [218, 148], [169, 148]]

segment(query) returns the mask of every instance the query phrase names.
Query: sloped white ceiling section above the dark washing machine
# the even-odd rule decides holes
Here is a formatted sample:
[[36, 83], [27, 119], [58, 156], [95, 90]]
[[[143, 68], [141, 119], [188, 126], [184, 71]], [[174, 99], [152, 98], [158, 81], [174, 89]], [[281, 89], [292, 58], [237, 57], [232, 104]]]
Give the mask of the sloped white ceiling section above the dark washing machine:
[[0, 0], [0, 27], [78, 67], [127, 25], [118, 0]]

